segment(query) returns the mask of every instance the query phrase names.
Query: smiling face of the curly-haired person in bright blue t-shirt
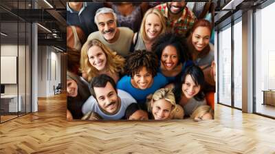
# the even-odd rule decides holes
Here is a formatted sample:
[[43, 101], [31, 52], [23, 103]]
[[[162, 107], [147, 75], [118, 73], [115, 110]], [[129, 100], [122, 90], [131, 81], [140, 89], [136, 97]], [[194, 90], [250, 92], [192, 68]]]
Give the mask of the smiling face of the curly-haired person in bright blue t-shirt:
[[146, 67], [142, 67], [140, 72], [137, 72], [133, 76], [133, 85], [138, 89], [147, 89], [153, 83], [153, 76], [151, 72], [148, 72]]

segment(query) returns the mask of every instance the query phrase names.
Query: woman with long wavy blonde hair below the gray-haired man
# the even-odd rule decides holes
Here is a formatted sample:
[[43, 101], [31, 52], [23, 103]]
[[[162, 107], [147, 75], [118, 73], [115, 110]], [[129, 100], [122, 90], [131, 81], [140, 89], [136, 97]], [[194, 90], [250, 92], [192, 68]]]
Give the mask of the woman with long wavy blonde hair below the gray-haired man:
[[81, 50], [80, 71], [88, 82], [100, 74], [106, 74], [115, 80], [124, 72], [124, 58], [102, 44], [98, 39], [87, 41]]

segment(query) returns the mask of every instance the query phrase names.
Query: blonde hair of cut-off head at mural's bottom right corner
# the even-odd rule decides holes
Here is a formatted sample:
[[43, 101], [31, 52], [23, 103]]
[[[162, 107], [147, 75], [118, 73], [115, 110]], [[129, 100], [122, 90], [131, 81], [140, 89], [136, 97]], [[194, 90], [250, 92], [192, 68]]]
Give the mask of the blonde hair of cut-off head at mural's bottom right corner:
[[201, 117], [206, 113], [210, 113], [214, 117], [214, 111], [209, 105], [201, 105], [195, 109], [195, 111], [190, 116], [194, 121], [201, 121]]

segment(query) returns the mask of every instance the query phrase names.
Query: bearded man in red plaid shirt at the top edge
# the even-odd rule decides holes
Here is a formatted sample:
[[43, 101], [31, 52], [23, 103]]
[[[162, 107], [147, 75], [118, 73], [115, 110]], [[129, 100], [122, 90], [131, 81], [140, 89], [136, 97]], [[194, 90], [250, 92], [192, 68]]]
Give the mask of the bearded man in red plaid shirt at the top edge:
[[157, 5], [166, 18], [166, 28], [180, 36], [186, 36], [186, 32], [197, 21], [194, 13], [186, 7], [186, 2], [166, 2]]

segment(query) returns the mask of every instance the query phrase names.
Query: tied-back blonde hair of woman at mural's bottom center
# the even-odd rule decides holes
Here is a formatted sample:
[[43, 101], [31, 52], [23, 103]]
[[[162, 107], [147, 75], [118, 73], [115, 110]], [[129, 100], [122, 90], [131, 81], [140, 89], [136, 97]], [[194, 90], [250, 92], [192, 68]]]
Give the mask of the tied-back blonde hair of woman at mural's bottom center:
[[176, 107], [176, 100], [174, 93], [170, 88], [158, 89], [153, 95], [151, 94], [147, 97], [148, 112], [152, 112], [152, 102], [162, 99], [167, 100], [172, 104], [172, 109], [170, 113], [173, 113]]

